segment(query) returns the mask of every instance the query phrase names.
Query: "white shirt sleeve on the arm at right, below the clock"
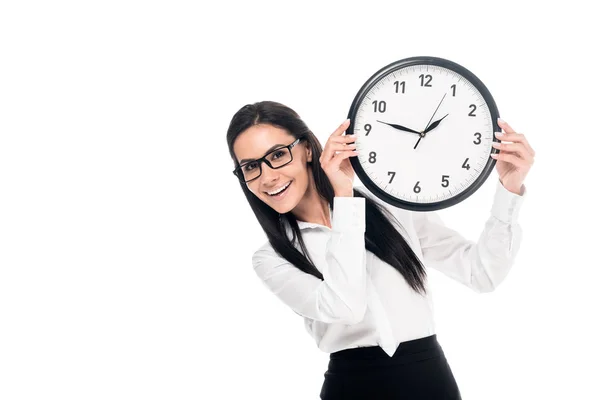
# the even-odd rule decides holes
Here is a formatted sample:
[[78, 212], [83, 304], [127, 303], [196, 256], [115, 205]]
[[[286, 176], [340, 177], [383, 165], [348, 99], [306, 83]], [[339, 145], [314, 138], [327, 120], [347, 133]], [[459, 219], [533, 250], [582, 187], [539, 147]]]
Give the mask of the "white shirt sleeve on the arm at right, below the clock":
[[521, 244], [517, 218], [526, 196], [508, 191], [498, 180], [490, 216], [478, 241], [448, 228], [434, 212], [414, 212], [423, 262], [478, 293], [491, 292], [504, 280]]

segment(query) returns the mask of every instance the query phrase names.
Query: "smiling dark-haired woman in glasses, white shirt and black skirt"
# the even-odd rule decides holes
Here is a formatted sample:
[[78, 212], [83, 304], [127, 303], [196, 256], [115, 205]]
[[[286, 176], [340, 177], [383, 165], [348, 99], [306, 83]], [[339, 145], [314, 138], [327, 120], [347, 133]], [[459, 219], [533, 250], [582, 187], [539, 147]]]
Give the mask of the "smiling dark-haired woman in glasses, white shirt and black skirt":
[[399, 209], [353, 187], [349, 120], [321, 148], [280, 103], [248, 104], [233, 116], [233, 172], [268, 238], [253, 266], [330, 353], [321, 399], [461, 398], [435, 334], [424, 265], [477, 292], [492, 291], [512, 265], [534, 152], [500, 123], [513, 143], [496, 146], [500, 180], [474, 243], [435, 212]]

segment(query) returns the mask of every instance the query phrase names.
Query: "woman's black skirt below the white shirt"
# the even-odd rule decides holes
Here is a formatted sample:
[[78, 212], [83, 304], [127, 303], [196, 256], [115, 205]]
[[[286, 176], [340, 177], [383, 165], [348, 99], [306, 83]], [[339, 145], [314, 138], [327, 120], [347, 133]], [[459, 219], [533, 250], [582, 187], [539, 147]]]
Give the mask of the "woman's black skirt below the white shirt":
[[322, 400], [460, 400], [437, 336], [400, 343], [393, 357], [379, 346], [331, 353]]

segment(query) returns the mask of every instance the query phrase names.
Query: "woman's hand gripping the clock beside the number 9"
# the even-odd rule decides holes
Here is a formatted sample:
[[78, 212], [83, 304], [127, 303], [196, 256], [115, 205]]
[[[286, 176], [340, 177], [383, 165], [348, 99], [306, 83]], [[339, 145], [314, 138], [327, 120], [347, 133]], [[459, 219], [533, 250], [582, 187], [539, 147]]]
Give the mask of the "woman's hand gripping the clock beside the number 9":
[[[350, 125], [347, 119], [327, 139], [319, 161], [321, 168], [329, 178], [336, 197], [352, 197], [354, 169], [350, 164], [350, 157], [356, 156], [356, 141], [354, 135], [342, 135]], [[336, 154], [336, 151], [339, 153]]]

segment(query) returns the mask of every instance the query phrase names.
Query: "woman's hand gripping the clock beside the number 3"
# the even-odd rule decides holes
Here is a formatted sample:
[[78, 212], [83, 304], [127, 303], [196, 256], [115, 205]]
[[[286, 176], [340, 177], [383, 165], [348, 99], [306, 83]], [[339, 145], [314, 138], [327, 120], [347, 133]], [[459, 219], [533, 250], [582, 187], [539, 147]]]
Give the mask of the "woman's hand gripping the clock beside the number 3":
[[[517, 133], [505, 121], [498, 118], [498, 125], [504, 130], [503, 134], [496, 132], [496, 137], [502, 143], [493, 142], [492, 146], [500, 153], [492, 154], [496, 159], [496, 171], [500, 176], [500, 182], [509, 191], [521, 194], [521, 185], [525, 176], [533, 165], [535, 151], [522, 133]], [[512, 143], [505, 143], [512, 142]]]

